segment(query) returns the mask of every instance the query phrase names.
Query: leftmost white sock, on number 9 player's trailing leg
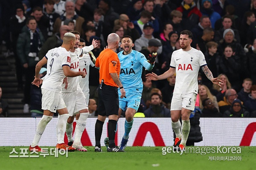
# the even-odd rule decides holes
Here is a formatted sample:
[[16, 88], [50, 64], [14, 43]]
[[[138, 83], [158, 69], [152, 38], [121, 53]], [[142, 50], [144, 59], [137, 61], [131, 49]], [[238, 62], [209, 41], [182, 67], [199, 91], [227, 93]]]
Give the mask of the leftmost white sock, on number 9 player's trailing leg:
[[52, 116], [46, 116], [43, 115], [43, 117], [41, 118], [41, 120], [38, 122], [38, 125], [36, 127], [36, 132], [35, 132], [35, 137], [34, 140], [31, 144], [31, 147], [35, 147], [36, 145], [38, 145], [42, 134], [44, 133], [44, 129], [47, 126], [47, 124], [52, 120]]

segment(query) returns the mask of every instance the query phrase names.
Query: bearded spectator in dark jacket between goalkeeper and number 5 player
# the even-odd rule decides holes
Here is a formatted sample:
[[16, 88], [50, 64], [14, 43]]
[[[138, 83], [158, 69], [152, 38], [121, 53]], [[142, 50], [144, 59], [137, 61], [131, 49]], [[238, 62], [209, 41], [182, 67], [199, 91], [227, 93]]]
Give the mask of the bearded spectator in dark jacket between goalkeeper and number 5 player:
[[147, 110], [144, 111], [145, 117], [171, 117], [169, 109], [161, 105], [162, 96], [158, 93], [151, 94], [151, 104]]

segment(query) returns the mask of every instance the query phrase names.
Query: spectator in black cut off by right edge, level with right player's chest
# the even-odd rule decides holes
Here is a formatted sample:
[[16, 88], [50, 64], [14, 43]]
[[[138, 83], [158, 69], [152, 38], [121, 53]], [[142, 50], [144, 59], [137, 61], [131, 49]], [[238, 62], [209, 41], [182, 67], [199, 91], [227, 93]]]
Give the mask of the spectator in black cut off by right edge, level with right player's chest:
[[256, 39], [254, 39], [253, 45], [249, 48], [246, 56], [248, 59], [247, 67], [250, 70], [251, 79], [253, 80], [253, 84], [256, 84]]

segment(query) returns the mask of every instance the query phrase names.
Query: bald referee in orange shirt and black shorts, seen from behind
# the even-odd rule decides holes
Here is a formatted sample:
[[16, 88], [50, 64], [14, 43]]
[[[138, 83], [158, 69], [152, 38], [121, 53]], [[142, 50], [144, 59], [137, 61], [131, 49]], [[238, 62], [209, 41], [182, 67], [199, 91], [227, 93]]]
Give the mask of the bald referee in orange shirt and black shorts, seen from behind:
[[95, 66], [99, 68], [99, 103], [98, 119], [95, 124], [95, 152], [102, 152], [100, 139], [102, 136], [102, 127], [108, 116], [108, 152], [124, 152], [115, 144], [116, 123], [118, 119], [119, 98], [118, 88], [121, 92], [121, 98], [125, 97], [125, 90], [119, 80], [120, 61], [116, 49], [119, 48], [120, 38], [117, 34], [108, 35], [108, 46], [96, 59]]

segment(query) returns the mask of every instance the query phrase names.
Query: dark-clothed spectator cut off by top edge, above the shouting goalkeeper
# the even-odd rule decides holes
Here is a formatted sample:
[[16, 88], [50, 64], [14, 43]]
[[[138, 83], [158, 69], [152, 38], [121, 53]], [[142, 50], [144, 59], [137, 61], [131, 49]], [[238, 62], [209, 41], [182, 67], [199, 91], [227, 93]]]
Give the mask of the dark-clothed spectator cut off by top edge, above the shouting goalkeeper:
[[140, 13], [142, 11], [143, 11], [142, 0], [132, 0], [130, 3], [130, 7], [126, 11], [126, 14], [130, 18], [130, 20], [133, 21], [133, 20], [137, 20], [137, 17], [140, 16]]

